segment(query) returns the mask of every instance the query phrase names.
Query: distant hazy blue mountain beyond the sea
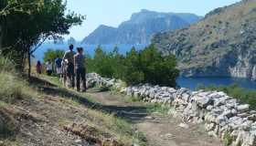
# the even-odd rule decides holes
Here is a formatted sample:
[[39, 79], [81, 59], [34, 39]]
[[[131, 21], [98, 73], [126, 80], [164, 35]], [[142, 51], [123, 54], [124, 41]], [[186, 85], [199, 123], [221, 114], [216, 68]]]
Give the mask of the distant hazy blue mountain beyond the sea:
[[195, 23], [200, 16], [193, 14], [158, 13], [141, 10], [118, 27], [99, 26], [85, 37], [83, 44], [149, 44], [157, 32], [180, 29]]

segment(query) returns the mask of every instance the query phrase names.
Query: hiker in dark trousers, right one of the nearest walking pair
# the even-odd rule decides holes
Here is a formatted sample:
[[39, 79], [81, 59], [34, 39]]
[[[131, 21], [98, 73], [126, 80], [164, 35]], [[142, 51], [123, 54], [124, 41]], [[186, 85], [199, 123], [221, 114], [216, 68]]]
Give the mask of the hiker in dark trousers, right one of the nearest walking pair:
[[76, 83], [77, 83], [77, 90], [80, 91], [80, 81], [82, 83], [82, 92], [86, 91], [86, 73], [85, 73], [85, 57], [83, 56], [83, 48], [77, 48], [78, 53], [74, 56], [74, 65], [75, 65], [75, 72], [76, 72]]

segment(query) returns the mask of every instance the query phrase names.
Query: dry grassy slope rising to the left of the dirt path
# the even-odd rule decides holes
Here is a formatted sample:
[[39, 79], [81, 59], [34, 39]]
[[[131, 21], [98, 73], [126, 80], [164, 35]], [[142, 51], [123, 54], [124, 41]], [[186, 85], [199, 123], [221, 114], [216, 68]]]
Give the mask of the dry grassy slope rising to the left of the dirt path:
[[[89, 131], [94, 131], [95, 139], [97, 136], [99, 140], [102, 137], [111, 137], [125, 145], [144, 143], [140, 141], [140, 138], [143, 139], [142, 134], [133, 134], [135, 132], [130, 123], [107, 111], [95, 109], [93, 106], [98, 104], [93, 99], [87, 99], [73, 90], [59, 87], [56, 84], [58, 83], [56, 78], [52, 83], [38, 78], [34, 79], [34, 83], [28, 85], [26, 80], [17, 78], [14, 73], [3, 71], [0, 73], [0, 85], [2, 86], [0, 88], [0, 145], [26, 145], [27, 139], [33, 140], [33, 138], [26, 138], [23, 133], [23, 131], [34, 133], [35, 128], [27, 127], [29, 122], [32, 122], [29, 125], [35, 124], [36, 127], [37, 124], [48, 124], [42, 126], [41, 134], [37, 135], [35, 132], [36, 134], [31, 136], [35, 137], [34, 139], [43, 139], [42, 141], [47, 139], [51, 141], [50, 138], [42, 137], [44, 132], [49, 132], [48, 129], [62, 131], [69, 125], [75, 125], [69, 130], [83, 139], [89, 139], [91, 134], [83, 132], [82, 128], [90, 127]], [[54, 80], [54, 78], [47, 79]], [[80, 131], [77, 131], [78, 129]], [[60, 139], [58, 133], [47, 135], [56, 136], [57, 140]], [[37, 141], [34, 142], [34, 144], [37, 143]], [[70, 144], [72, 141], [66, 142]]]

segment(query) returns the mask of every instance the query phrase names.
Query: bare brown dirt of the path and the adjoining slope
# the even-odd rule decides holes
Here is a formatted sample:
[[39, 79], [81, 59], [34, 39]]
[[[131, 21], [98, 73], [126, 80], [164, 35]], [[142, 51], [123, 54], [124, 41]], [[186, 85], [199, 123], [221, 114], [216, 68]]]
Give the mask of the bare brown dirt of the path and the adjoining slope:
[[[181, 120], [150, 113], [144, 103], [125, 102], [122, 95], [90, 89], [78, 96], [74, 91], [61, 89], [42, 80], [37, 80], [36, 86], [42, 93], [40, 97], [21, 100], [15, 106], [6, 107], [7, 112], [16, 115], [19, 126], [16, 140], [23, 146], [91, 145], [78, 134], [65, 130], [65, 126], [70, 123], [98, 122], [88, 114], [88, 107], [131, 122], [135, 130], [144, 133], [150, 146], [222, 146], [217, 139], [208, 137], [202, 126], [181, 128], [178, 126]], [[89, 97], [98, 103], [95, 104]], [[76, 101], [76, 104], [70, 100]]]

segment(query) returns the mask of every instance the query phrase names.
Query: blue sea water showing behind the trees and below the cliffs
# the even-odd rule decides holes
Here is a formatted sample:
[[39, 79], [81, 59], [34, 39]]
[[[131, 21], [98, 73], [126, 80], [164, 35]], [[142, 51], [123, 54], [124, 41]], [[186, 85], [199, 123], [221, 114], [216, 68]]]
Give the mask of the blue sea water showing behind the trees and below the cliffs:
[[[121, 54], [125, 54], [132, 47], [135, 47], [137, 50], [141, 50], [145, 47], [145, 45], [101, 45], [104, 51], [110, 52], [112, 49], [117, 46]], [[84, 47], [85, 53], [93, 56], [94, 50], [97, 46], [95, 45], [77, 45], [75, 47]], [[37, 49], [34, 53], [35, 59], [42, 60], [44, 57], [44, 53], [48, 49], [63, 49], [68, 50], [69, 46], [67, 44], [64, 45], [55, 45], [55, 44], [44, 44]], [[245, 78], [177, 78], [177, 84], [180, 87], [192, 89], [197, 89], [198, 85], [232, 85], [238, 84], [240, 87], [245, 89], [256, 89], [256, 81], [252, 81], [250, 79]]]

